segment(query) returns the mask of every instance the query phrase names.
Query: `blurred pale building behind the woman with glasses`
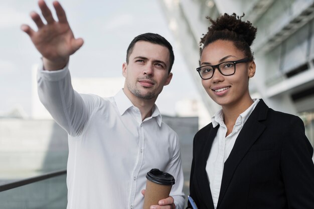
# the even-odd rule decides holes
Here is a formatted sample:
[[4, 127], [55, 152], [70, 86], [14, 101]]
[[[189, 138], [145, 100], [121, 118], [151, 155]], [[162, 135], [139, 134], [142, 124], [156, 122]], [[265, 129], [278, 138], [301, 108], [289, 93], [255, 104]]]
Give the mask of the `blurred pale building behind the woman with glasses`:
[[252, 97], [273, 109], [298, 114], [314, 141], [314, 1], [313, 0], [160, 0], [169, 28], [193, 71], [195, 85], [209, 114], [219, 106], [204, 90], [195, 68], [199, 41], [209, 21], [222, 13], [245, 13], [257, 27], [253, 43], [256, 74], [250, 80]]

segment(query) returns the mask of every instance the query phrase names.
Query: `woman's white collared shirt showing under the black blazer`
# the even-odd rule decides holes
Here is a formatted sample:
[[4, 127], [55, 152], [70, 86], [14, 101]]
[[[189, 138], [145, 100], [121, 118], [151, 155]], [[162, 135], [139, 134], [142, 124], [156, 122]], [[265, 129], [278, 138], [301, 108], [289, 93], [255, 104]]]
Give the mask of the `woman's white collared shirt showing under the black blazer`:
[[207, 159], [206, 172], [210, 182], [209, 185], [215, 209], [217, 207], [220, 193], [224, 163], [227, 160], [244, 123], [259, 101], [259, 99], [254, 100], [253, 104], [238, 116], [232, 132], [227, 137], [227, 126], [224, 123], [224, 114], [222, 109], [216, 112], [212, 117], [213, 127], [216, 127], [218, 124], [220, 124], [220, 126], [218, 128], [217, 135], [213, 140], [212, 148]]

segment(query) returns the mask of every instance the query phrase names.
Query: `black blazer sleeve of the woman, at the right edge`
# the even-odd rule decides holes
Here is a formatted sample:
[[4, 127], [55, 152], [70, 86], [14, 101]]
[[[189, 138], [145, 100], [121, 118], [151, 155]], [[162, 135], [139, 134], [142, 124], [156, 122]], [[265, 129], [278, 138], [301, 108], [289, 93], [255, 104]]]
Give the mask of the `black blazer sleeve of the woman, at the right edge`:
[[299, 117], [293, 116], [286, 129], [280, 168], [289, 208], [313, 208], [313, 148], [305, 136], [304, 124]]

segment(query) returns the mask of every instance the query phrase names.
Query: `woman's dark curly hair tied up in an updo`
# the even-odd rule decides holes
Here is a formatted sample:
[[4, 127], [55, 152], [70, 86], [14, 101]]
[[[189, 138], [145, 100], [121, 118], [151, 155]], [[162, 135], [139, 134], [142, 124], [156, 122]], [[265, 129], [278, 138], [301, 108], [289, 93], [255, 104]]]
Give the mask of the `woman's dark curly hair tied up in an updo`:
[[200, 55], [203, 49], [216, 40], [230, 40], [234, 45], [242, 50], [250, 61], [254, 59], [251, 45], [256, 37], [257, 28], [250, 21], [242, 21], [244, 16], [237, 16], [235, 13], [229, 15], [227, 13], [219, 16], [216, 20], [206, 17], [212, 23], [208, 27], [208, 32], [201, 38]]

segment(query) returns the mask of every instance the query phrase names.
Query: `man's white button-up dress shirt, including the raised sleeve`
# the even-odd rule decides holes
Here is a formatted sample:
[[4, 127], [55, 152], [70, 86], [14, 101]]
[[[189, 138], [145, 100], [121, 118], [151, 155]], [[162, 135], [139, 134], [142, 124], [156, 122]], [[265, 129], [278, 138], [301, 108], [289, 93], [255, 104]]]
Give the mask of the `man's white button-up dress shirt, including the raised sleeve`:
[[38, 92], [54, 119], [68, 132], [68, 209], [142, 209], [145, 174], [159, 168], [174, 175], [170, 195], [185, 203], [178, 136], [154, 106], [150, 117], [121, 89], [114, 97], [79, 94], [68, 66], [38, 73]]

